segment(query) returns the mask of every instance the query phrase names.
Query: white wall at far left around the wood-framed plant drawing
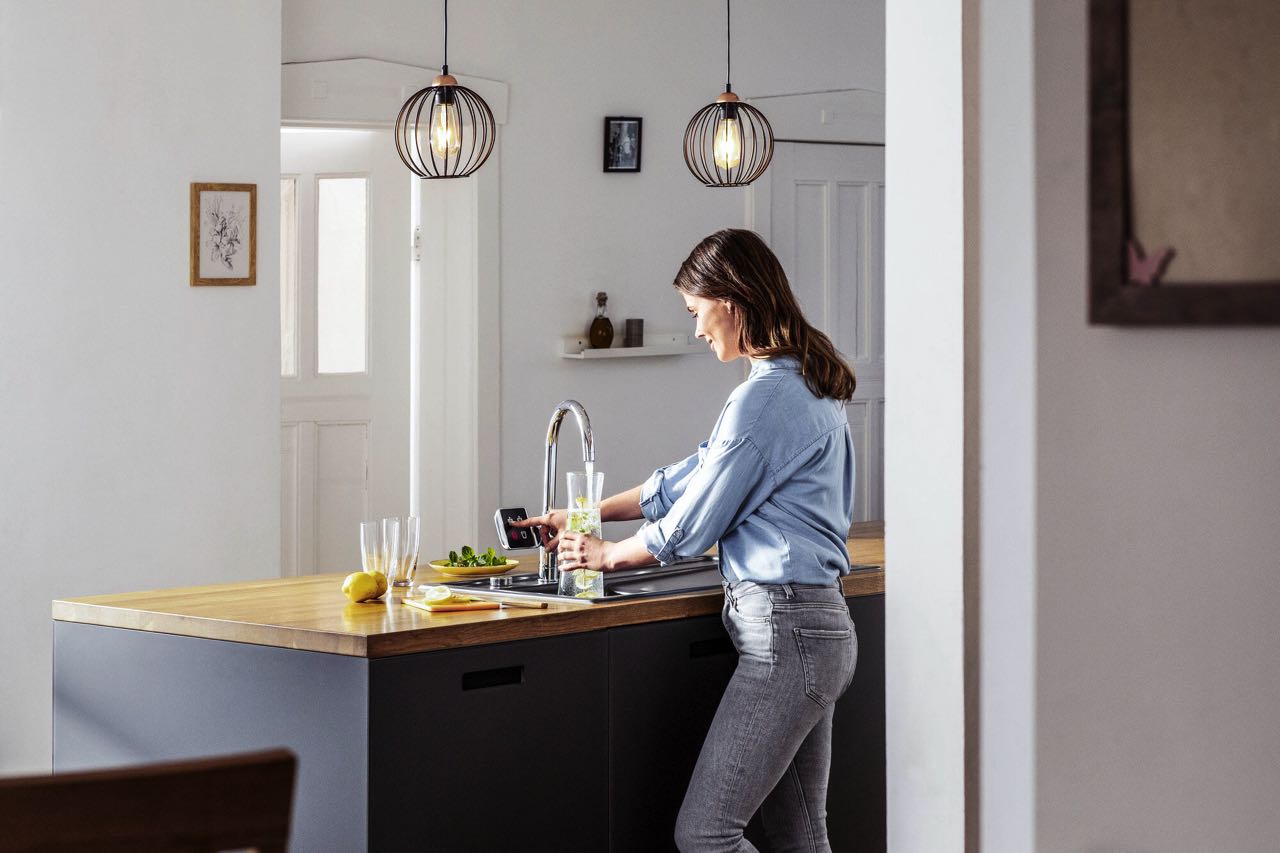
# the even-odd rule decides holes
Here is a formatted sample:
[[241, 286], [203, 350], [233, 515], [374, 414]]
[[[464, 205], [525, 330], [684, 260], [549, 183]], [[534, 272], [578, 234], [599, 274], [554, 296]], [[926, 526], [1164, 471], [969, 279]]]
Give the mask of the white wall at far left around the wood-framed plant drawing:
[[[275, 1], [0, 4], [0, 772], [50, 762], [50, 599], [279, 564]], [[188, 286], [188, 184], [259, 284]]]

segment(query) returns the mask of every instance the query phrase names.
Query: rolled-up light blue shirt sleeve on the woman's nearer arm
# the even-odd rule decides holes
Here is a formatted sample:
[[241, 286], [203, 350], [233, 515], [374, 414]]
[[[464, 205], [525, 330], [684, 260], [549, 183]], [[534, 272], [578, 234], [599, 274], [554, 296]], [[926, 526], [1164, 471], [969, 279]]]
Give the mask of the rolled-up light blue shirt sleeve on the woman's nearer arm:
[[[689, 460], [680, 465], [686, 462]], [[654, 476], [659, 473], [655, 471]], [[662, 491], [660, 487], [662, 483], [655, 494]], [[701, 464], [695, 465], [682, 480], [680, 493], [662, 515], [650, 517], [645, 512], [650, 524], [643, 526], [637, 535], [660, 562], [698, 556], [759, 508], [773, 487], [773, 474], [750, 438], [718, 441], [705, 448]]]

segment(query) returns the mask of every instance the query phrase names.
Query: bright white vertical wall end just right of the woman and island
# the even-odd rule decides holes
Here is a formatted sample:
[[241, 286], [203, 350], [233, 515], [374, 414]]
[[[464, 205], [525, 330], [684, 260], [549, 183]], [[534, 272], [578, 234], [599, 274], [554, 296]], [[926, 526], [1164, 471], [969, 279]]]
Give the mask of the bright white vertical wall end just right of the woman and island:
[[961, 4], [886, 22], [888, 847], [964, 849]]

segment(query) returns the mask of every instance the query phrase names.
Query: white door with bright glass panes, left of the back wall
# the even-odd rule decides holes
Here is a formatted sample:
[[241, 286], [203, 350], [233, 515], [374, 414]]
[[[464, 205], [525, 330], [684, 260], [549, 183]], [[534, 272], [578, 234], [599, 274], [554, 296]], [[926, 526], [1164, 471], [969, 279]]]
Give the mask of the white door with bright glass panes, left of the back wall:
[[280, 134], [284, 575], [355, 571], [408, 512], [411, 178], [390, 131]]

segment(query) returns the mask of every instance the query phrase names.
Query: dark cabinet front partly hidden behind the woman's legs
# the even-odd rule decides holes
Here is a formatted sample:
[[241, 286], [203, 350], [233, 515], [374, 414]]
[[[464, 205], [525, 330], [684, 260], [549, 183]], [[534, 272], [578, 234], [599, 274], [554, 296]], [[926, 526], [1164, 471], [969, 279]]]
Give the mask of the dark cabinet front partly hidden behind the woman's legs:
[[[858, 671], [836, 703], [827, 826], [840, 853], [882, 852], [884, 597], [849, 599]], [[609, 850], [676, 849], [672, 830], [737, 658], [719, 617], [609, 631]], [[758, 822], [748, 838], [768, 850]]]

